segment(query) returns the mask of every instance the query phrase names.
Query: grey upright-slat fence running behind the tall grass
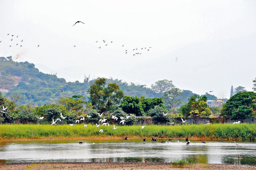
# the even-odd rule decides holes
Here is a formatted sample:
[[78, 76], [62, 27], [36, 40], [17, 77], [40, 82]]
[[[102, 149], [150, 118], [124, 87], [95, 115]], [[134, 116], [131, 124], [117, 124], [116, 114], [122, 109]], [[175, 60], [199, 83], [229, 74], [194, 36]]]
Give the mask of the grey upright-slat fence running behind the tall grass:
[[[148, 116], [137, 116], [138, 120], [135, 123], [136, 125], [154, 125], [158, 124], [153, 122], [151, 117]], [[186, 122], [182, 122], [181, 118]], [[205, 123], [234, 123], [240, 121], [241, 123], [248, 123], [248, 124], [256, 124], [255, 117], [249, 117], [244, 119], [237, 119], [232, 120], [231, 118], [224, 118], [224, 117], [174, 117], [171, 118], [170, 122], [174, 122], [172, 125], [188, 125], [188, 124], [205, 124]], [[14, 124], [21, 124], [18, 120], [13, 122]], [[46, 122], [44, 120], [35, 120], [32, 122], [27, 122], [27, 124], [47, 124], [49, 125], [49, 122]], [[65, 125], [67, 124], [65, 120], [62, 120], [61, 122], [56, 122], [57, 125]], [[166, 125], [170, 125], [169, 123], [166, 123]]]

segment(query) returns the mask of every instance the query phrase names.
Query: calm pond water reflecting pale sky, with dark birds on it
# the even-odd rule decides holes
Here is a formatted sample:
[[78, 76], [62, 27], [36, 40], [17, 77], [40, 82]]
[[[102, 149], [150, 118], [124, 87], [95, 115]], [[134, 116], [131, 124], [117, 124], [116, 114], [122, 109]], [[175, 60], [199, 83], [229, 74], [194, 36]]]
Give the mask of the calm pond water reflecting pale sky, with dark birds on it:
[[[78, 144], [82, 141], [82, 144]], [[209, 164], [256, 164], [253, 142], [184, 141], [160, 143], [142, 140], [0, 141], [3, 162], [170, 162], [192, 158]], [[241, 157], [241, 158], [240, 158]]]

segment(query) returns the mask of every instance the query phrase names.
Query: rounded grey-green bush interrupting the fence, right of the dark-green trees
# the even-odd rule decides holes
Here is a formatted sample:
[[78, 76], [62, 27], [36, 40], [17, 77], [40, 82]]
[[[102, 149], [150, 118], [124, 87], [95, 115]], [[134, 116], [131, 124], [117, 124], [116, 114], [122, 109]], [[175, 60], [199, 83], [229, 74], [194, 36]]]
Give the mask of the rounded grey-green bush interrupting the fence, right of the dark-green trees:
[[168, 113], [168, 111], [166, 110], [166, 108], [163, 108], [160, 106], [155, 106], [155, 108], [152, 108], [149, 111], [149, 115], [152, 117], [152, 120], [155, 123], [160, 123], [160, 124], [169, 122], [171, 118], [171, 114], [167, 114], [166, 116], [164, 116], [163, 113], [166, 114]]

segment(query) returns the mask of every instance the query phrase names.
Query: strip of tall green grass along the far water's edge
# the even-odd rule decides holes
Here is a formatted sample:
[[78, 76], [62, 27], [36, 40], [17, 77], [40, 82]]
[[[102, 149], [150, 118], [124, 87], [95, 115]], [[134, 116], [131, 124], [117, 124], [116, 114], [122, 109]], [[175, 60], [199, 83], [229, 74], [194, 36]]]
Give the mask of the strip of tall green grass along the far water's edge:
[[[89, 125], [87, 128], [81, 125], [0, 125], [1, 140], [62, 138], [150, 138], [154, 134], [166, 138], [190, 139], [226, 139], [226, 140], [254, 140], [256, 138], [256, 124], [211, 124], [211, 125], [177, 125], [158, 126], [147, 125], [144, 129], [141, 126], [100, 126]], [[104, 129], [103, 133], [99, 132]], [[158, 138], [159, 138], [158, 137]]]

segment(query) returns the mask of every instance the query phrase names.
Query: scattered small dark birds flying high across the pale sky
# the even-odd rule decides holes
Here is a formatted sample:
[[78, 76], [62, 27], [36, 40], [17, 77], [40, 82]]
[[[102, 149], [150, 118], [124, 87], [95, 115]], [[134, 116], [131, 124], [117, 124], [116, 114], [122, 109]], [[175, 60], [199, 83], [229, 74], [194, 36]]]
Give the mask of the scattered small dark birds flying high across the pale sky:
[[[73, 25], [73, 26], [75, 26], [76, 24], [79, 24], [79, 23], [82, 23], [82, 24], [85, 24], [85, 23], [83, 23], [82, 21], [76, 21], [76, 23]], [[10, 33], [8, 33], [7, 34], [8, 36], [10, 35]], [[23, 47], [22, 46], [22, 42], [23, 42], [23, 39], [21, 40], [21, 39], [18, 39], [18, 35], [17, 36], [15, 36], [15, 35], [10, 35], [10, 36], [12, 36], [11, 37], [11, 39], [10, 39], [10, 41], [12, 42], [12, 44], [9, 44], [9, 47], [13, 47], [13, 46], [15, 46], [15, 44], [16, 44], [16, 46], [20, 46], [20, 47]], [[0, 40], [0, 43], [2, 42], [2, 40]], [[13, 42], [14, 42], [14, 44], [13, 44]], [[111, 44], [114, 44], [114, 42], [113, 41], [107, 41], [106, 42], [106, 40], [103, 40], [102, 41], [103, 42], [103, 44], [99, 44], [99, 41], [96, 41], [95, 43], [98, 43], [99, 45], [98, 45], [98, 48], [100, 49], [100, 48], [102, 48], [102, 47], [107, 47], [107, 46], [110, 46]], [[37, 45], [37, 47], [40, 47], [40, 45]], [[74, 48], [76, 47], [76, 45], [74, 45]], [[123, 45], [120, 45], [120, 47], [123, 47], [123, 48], [125, 48], [125, 44], [123, 44]], [[133, 48], [133, 49], [124, 49], [125, 50], [125, 54], [128, 54], [128, 53], [132, 53], [133, 54], [133, 56], [135, 56], [135, 55], [138, 55], [138, 54], [142, 54], [142, 52], [143, 51], [149, 51], [150, 50], [150, 48], [152, 48], [152, 47], [141, 47], [141, 48]]]

